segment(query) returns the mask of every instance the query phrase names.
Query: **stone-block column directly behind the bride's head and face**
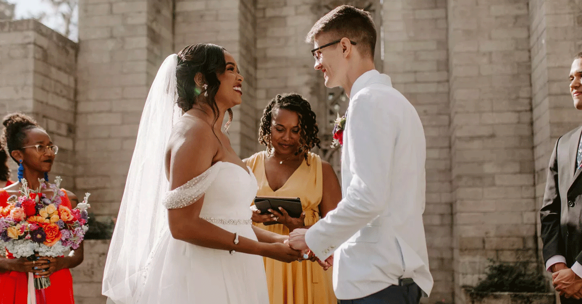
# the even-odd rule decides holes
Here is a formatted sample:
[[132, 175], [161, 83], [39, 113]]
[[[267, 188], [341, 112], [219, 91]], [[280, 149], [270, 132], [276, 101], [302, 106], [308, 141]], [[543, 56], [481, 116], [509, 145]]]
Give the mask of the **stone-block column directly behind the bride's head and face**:
[[233, 108], [228, 133], [230, 144], [242, 158], [256, 149], [255, 23], [254, 2], [250, 0], [176, 0], [174, 51], [190, 44], [214, 43], [225, 47], [239, 65], [244, 77], [243, 103]]

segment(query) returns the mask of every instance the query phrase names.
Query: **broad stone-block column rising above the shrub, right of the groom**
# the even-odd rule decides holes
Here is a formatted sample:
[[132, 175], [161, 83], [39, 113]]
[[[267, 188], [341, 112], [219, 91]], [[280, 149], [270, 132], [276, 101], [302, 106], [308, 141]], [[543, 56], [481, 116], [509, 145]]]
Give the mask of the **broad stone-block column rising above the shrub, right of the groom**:
[[528, 2], [448, 1], [455, 303], [487, 259], [535, 256]]

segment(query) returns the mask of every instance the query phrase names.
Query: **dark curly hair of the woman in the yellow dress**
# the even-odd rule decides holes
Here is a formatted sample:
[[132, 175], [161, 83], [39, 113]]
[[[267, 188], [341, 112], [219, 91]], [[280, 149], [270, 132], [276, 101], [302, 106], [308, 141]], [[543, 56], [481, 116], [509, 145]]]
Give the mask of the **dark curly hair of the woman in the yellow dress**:
[[273, 111], [275, 109], [286, 109], [297, 113], [299, 116], [299, 150], [295, 155], [304, 153], [307, 160], [307, 152], [317, 146], [321, 148], [320, 137], [317, 133], [320, 129], [317, 126], [317, 117], [311, 110], [311, 105], [305, 98], [299, 94], [279, 94], [269, 102], [267, 107], [262, 111], [261, 128], [258, 131], [258, 142], [267, 146], [267, 151], [272, 150], [271, 144], [271, 123]]

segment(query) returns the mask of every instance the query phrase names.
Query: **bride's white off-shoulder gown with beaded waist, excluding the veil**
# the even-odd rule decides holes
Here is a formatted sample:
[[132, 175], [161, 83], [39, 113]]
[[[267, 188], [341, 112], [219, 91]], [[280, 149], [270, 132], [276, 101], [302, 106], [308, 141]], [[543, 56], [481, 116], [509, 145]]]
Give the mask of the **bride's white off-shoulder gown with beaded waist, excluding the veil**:
[[[249, 170], [250, 171], [250, 170]], [[204, 193], [200, 217], [239, 236], [257, 240], [250, 202], [257, 193], [252, 171], [217, 162], [192, 181], [168, 193], [166, 207]], [[164, 229], [146, 264], [138, 303], [269, 303], [262, 257], [205, 248], [172, 238]]]

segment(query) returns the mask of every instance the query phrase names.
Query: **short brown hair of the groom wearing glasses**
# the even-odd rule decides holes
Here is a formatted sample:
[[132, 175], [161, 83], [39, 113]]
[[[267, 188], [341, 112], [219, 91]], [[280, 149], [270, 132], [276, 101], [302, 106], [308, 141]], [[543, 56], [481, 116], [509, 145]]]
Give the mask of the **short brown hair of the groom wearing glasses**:
[[343, 37], [354, 41], [363, 55], [374, 58], [376, 47], [376, 27], [370, 13], [350, 5], [341, 5], [317, 20], [305, 41], [313, 43], [319, 34], [332, 34], [336, 39]]

